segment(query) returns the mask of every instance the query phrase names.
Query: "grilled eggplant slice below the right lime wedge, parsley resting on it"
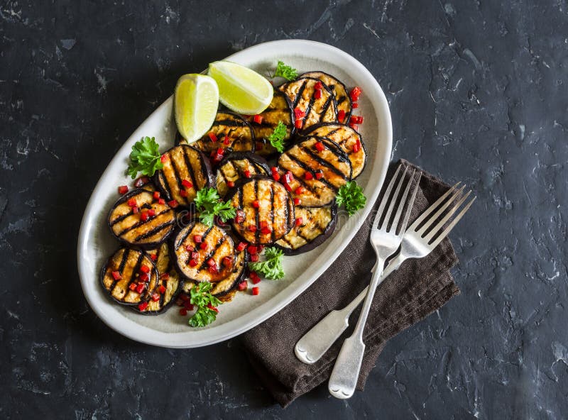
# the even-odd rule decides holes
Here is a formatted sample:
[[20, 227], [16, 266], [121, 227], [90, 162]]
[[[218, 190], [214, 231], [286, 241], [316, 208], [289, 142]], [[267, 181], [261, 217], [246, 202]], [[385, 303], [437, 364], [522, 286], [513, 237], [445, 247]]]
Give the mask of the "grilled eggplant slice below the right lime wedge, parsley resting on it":
[[278, 122], [282, 121], [286, 126], [284, 141], [288, 142], [294, 132], [295, 118], [292, 111], [292, 103], [288, 96], [275, 90], [271, 104], [258, 115], [262, 118], [260, 123], [254, 121], [255, 116], [253, 115], [246, 117], [246, 120], [249, 121], [253, 128], [254, 138], [256, 138], [255, 153], [262, 156], [275, 155], [275, 153], [278, 153], [278, 150], [268, 141], [268, 136], [273, 133], [274, 128], [278, 126]]

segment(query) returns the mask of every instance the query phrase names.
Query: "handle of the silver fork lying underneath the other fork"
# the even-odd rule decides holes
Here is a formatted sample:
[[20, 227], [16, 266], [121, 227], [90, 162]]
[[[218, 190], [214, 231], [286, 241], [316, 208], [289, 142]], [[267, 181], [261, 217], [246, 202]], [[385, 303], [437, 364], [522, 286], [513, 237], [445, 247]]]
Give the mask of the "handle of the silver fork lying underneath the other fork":
[[[405, 259], [405, 257], [398, 253], [385, 267], [378, 284], [381, 284], [386, 277], [391, 275], [391, 272], [397, 270]], [[367, 294], [367, 289], [368, 287], [365, 287], [365, 289], [343, 309], [329, 312], [329, 314], [315, 324], [310, 331], [307, 331], [294, 347], [296, 357], [308, 365], [320, 360], [349, 326], [349, 316], [356, 307], [363, 302]]]

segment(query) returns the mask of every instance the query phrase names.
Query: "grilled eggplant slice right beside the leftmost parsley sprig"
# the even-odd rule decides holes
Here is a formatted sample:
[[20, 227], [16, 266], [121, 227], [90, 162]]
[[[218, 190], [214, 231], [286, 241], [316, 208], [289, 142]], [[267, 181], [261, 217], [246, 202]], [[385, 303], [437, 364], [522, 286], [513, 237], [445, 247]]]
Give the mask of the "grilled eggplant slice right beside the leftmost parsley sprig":
[[198, 190], [215, 186], [209, 159], [199, 150], [179, 145], [163, 156], [164, 167], [155, 173], [154, 182], [168, 201], [175, 200], [187, 207]]

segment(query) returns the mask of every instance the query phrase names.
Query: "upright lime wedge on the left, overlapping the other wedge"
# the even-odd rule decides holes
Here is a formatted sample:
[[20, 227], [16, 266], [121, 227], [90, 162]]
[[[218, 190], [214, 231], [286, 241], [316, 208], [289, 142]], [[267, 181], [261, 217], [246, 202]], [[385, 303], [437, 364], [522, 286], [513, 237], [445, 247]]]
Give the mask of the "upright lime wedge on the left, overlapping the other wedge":
[[211, 128], [219, 106], [219, 88], [212, 77], [184, 74], [175, 85], [175, 123], [187, 143], [199, 140]]

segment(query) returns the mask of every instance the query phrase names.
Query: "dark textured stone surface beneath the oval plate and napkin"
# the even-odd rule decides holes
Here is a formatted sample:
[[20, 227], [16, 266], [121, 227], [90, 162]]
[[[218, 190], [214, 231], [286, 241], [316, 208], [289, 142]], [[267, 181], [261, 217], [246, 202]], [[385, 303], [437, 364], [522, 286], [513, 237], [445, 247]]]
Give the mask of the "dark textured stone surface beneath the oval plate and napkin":
[[[566, 415], [565, 1], [127, 3], [0, 6], [0, 417]], [[462, 294], [388, 343], [364, 393], [320, 387], [284, 411], [238, 341], [165, 350], [111, 331], [75, 262], [92, 187], [178, 76], [280, 38], [361, 60], [394, 157], [479, 197], [452, 233]]]

